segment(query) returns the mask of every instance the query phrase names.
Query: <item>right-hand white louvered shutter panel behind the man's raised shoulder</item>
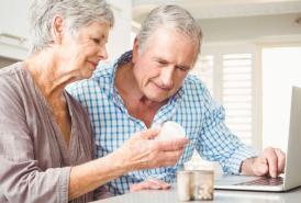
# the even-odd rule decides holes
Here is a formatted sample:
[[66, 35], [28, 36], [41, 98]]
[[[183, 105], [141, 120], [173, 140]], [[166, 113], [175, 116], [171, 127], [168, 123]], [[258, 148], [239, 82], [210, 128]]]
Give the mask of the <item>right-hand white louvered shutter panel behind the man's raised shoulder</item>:
[[226, 54], [222, 57], [222, 103], [226, 125], [244, 143], [252, 144], [253, 84], [252, 54]]

